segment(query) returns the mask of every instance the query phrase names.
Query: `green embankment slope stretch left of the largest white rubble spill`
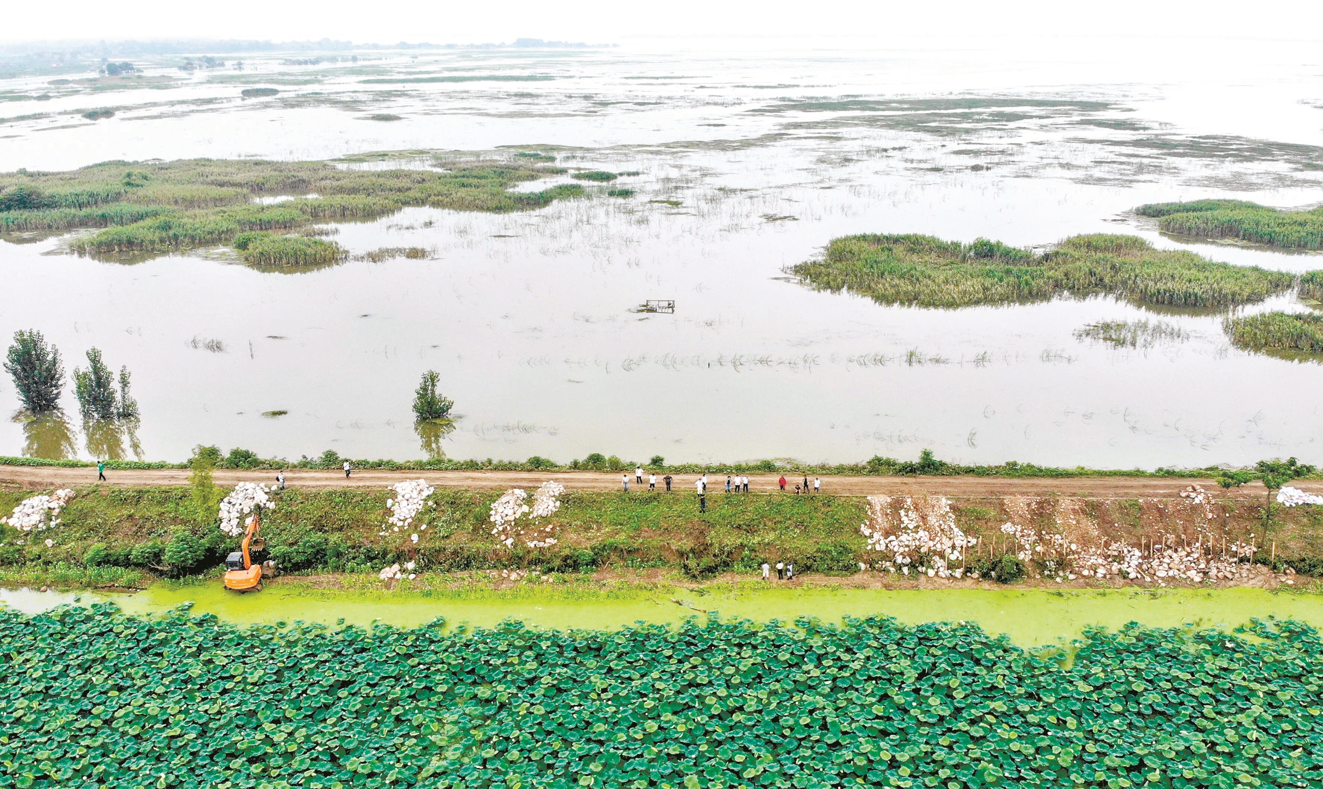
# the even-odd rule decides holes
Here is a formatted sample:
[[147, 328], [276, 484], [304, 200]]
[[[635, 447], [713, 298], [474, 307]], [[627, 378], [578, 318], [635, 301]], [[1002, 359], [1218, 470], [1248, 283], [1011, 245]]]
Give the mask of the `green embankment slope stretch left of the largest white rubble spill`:
[[[0, 514], [30, 490], [0, 489]], [[695, 576], [740, 567], [751, 571], [765, 558], [787, 558], [803, 571], [859, 570], [865, 519], [863, 498], [833, 496], [709, 497], [700, 518], [689, 492], [672, 494], [569, 493], [546, 523], [560, 542], [549, 548], [505, 548], [491, 534], [488, 515], [500, 492], [438, 488], [435, 506], [414, 519], [409, 533], [385, 529], [386, 489], [298, 490], [275, 494], [262, 514], [267, 558], [287, 571], [376, 572], [414, 558], [430, 571], [454, 572], [537, 567], [581, 572], [601, 567], [671, 567]], [[196, 501], [208, 502], [201, 513]], [[216, 567], [238, 539], [220, 531], [214, 500], [188, 488], [79, 489], [57, 529], [22, 534], [0, 525], [0, 567], [123, 567], [157, 575], [185, 575]], [[53, 546], [45, 538], [53, 538]], [[177, 547], [171, 551], [171, 546]], [[189, 550], [184, 550], [188, 546]]]

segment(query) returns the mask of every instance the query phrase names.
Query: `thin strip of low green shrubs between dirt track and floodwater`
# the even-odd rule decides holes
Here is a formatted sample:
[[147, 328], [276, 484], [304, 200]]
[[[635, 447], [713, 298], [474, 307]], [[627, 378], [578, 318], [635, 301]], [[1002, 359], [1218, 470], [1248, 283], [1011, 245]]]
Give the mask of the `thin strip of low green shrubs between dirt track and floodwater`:
[[[217, 453], [220, 451], [217, 449]], [[643, 467], [644, 470], [655, 472], [658, 474], [701, 474], [701, 473], [785, 473], [787, 477], [794, 474], [828, 474], [828, 476], [970, 476], [970, 477], [1008, 477], [1008, 478], [1076, 478], [1076, 477], [1185, 477], [1185, 478], [1209, 478], [1218, 476], [1224, 469], [1216, 465], [1207, 468], [1195, 469], [1171, 469], [1171, 468], [1158, 468], [1154, 470], [1144, 469], [1097, 469], [1077, 465], [1074, 468], [1058, 468], [1049, 465], [1037, 465], [1033, 463], [1019, 463], [1015, 460], [1008, 460], [998, 465], [964, 465], [959, 463], [949, 463], [945, 460], [938, 460], [933, 456], [933, 452], [923, 449], [919, 453], [918, 460], [896, 460], [893, 457], [873, 456], [864, 463], [837, 463], [837, 464], [812, 464], [812, 463], [799, 463], [795, 460], [753, 460], [746, 463], [672, 463], [668, 464], [663, 457], [654, 457], [644, 461], [635, 460], [622, 460], [615, 455], [610, 457], [603, 456], [598, 452], [589, 455], [582, 460], [572, 460], [569, 463], [557, 463], [554, 460], [540, 457], [537, 455], [527, 460], [451, 460], [451, 459], [435, 459], [435, 460], [372, 460], [372, 459], [349, 459], [341, 457], [333, 449], [328, 449], [316, 457], [302, 457], [299, 460], [287, 460], [283, 457], [259, 457], [255, 452], [249, 449], [235, 448], [230, 449], [229, 455], [221, 456], [217, 460], [216, 467], [224, 469], [246, 469], [246, 470], [278, 470], [278, 469], [339, 469], [341, 464], [349, 460], [353, 468], [357, 469], [377, 469], [377, 470], [496, 470], [496, 472], [570, 472], [570, 470], [586, 470], [586, 472], [619, 472], [619, 470], [632, 470], [638, 467]], [[185, 469], [189, 468], [188, 461], [144, 461], [144, 460], [107, 460], [106, 468], [118, 470], [131, 470], [131, 469]], [[93, 468], [97, 461], [90, 460], [50, 460], [45, 457], [0, 457], [0, 465], [24, 465], [24, 467], [52, 467], [52, 468]], [[790, 480], [791, 486], [794, 486], [794, 480]]]

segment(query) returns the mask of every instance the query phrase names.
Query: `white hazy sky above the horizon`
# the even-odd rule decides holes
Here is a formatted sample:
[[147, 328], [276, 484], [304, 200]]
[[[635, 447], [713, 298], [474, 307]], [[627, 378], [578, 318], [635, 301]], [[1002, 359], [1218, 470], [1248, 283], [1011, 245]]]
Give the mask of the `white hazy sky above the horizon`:
[[[0, 41], [101, 38], [331, 37], [359, 42], [508, 41], [515, 37], [589, 42], [638, 38], [878, 37], [941, 40], [1028, 36], [1258, 37], [1323, 40], [1318, 0], [619, 0], [442, 1], [228, 0], [187, 4], [69, 0], [11, 3]], [[696, 45], [703, 46], [701, 42]], [[1323, 62], [1323, 50], [1320, 50]], [[1192, 63], [1216, 69], [1217, 62]]]

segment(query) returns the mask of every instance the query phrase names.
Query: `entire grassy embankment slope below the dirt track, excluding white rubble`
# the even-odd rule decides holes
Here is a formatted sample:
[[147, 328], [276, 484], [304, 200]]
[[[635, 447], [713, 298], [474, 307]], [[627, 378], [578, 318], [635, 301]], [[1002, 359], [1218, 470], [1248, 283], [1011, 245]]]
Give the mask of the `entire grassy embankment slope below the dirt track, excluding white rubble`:
[[[33, 490], [0, 488], [0, 515], [33, 496]], [[792, 493], [726, 494], [720, 484], [699, 511], [692, 490], [673, 493], [569, 492], [564, 506], [542, 519], [556, 543], [507, 548], [488, 521], [500, 492], [437, 488], [430, 506], [407, 529], [385, 526], [393, 492], [364, 488], [274, 493], [275, 509], [262, 514], [267, 538], [263, 558], [290, 572], [377, 572], [396, 562], [415, 560], [418, 571], [460, 572], [523, 567], [542, 572], [663, 568], [689, 578], [720, 572], [755, 572], [762, 562], [794, 562], [799, 572], [852, 575], [872, 562], [860, 525], [868, 501], [852, 496]], [[41, 584], [112, 583], [120, 570], [138, 576], [183, 576], [217, 567], [238, 539], [216, 525], [218, 492], [191, 488], [79, 488], [60, 513], [54, 529], [21, 534], [0, 525], [0, 580]], [[1250, 542], [1263, 550], [1257, 559], [1290, 562], [1298, 572], [1323, 572], [1323, 507], [1273, 507], [1263, 522], [1263, 500], [1218, 498], [1208, 513], [1187, 500], [1070, 500], [1068, 517], [1058, 497], [986, 497], [955, 502], [959, 529], [979, 538], [968, 564], [1015, 552], [1002, 533], [1009, 521], [1033, 522], [1045, 533], [1066, 529], [1062, 518], [1088, 519], [1111, 542], [1139, 546], [1154, 537], [1184, 535], [1191, 545]], [[1073, 505], [1072, 505], [1073, 506]], [[410, 534], [418, 534], [415, 543]], [[1209, 537], [1212, 535], [1212, 537]], [[50, 539], [53, 545], [46, 546]], [[1175, 538], [1174, 538], [1175, 539]], [[1274, 552], [1267, 546], [1275, 542]], [[79, 580], [79, 574], [99, 572]], [[112, 570], [120, 568], [120, 570]], [[1028, 568], [1037, 572], [1044, 568]], [[1015, 578], [1025, 568], [1019, 568]], [[991, 575], [990, 568], [979, 570]], [[111, 579], [111, 580], [107, 580]], [[139, 585], [139, 584], [124, 584]]]

